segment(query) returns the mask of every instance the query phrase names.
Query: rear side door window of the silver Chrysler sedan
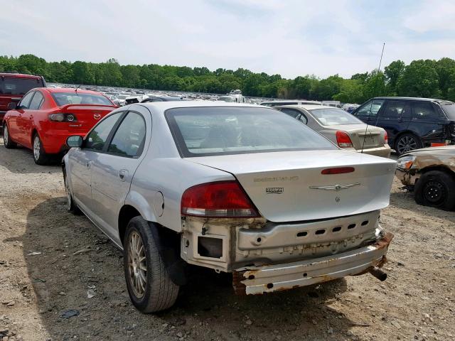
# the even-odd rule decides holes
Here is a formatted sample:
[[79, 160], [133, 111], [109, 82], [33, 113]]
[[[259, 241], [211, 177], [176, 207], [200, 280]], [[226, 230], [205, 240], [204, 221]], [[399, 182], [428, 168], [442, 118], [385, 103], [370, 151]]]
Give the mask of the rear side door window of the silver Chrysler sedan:
[[144, 118], [136, 112], [129, 112], [115, 132], [107, 152], [134, 158], [141, 155], [144, 141]]

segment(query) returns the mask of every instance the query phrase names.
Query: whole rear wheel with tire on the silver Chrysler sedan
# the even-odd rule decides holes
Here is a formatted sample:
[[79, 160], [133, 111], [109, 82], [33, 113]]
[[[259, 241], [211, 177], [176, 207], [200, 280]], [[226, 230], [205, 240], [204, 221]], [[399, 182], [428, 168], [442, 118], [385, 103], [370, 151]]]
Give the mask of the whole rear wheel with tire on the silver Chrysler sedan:
[[151, 227], [142, 217], [129, 221], [124, 237], [124, 273], [129, 298], [141, 313], [171, 308], [178, 286], [171, 281]]

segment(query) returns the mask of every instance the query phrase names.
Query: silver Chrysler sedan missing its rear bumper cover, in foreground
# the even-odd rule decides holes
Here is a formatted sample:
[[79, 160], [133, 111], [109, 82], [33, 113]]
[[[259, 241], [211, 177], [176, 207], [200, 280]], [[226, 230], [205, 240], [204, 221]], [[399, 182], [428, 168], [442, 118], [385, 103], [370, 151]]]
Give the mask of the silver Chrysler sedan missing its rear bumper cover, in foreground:
[[63, 158], [68, 210], [124, 252], [132, 303], [164, 310], [187, 264], [261, 294], [380, 269], [395, 161], [343, 151], [277, 110], [159, 102], [114, 110]]

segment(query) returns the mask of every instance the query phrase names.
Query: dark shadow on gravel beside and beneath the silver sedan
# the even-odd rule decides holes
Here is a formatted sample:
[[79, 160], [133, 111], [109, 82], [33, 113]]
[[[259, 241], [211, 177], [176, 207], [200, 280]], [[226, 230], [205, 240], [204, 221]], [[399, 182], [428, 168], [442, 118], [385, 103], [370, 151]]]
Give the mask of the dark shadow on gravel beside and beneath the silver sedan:
[[[68, 213], [65, 197], [33, 207], [21, 239], [32, 283], [23, 292], [36, 295], [41, 323], [52, 340], [124, 340], [132, 335], [158, 340], [179, 335], [186, 340], [344, 340], [355, 325], [331, 308], [348, 290], [345, 279], [235, 296], [228, 274], [201, 268], [191, 271], [173, 308], [141, 314], [129, 301], [121, 251], [87, 218]], [[77, 315], [65, 318], [69, 310]]]

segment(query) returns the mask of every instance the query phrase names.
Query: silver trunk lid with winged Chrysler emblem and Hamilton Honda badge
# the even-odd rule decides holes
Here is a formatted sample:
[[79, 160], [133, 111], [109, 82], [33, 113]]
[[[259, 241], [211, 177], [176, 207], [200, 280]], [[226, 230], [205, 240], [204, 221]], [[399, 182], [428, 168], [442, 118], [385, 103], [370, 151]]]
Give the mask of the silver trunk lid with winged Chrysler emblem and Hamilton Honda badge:
[[[395, 161], [353, 151], [287, 151], [187, 158], [231, 173], [272, 222], [319, 220], [389, 205]], [[352, 173], [322, 175], [326, 168]]]

